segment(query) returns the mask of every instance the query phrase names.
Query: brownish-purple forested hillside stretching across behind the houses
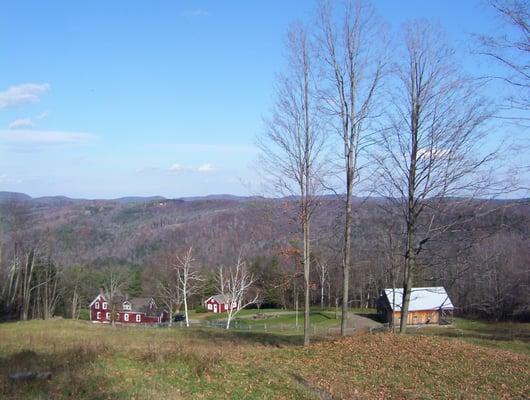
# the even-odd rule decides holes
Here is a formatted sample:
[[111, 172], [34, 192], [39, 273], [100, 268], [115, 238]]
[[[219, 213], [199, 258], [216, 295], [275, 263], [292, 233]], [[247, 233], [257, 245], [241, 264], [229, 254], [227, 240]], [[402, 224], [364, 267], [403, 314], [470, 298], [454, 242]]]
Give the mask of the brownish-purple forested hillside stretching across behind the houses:
[[[83, 268], [90, 282], [85, 298], [98, 290], [105, 268], [137, 272], [137, 293], [155, 291], [152, 278], [178, 252], [193, 247], [206, 276], [202, 295], [215, 291], [219, 266], [239, 254], [252, 264], [264, 302], [292, 306], [303, 286], [296, 202], [262, 198], [125, 198], [72, 200], [1, 197], [1, 271], [14, 257], [34, 249], [68, 275]], [[451, 229], [433, 239], [421, 258], [418, 286], [447, 287], [458, 312], [490, 318], [528, 315], [530, 206], [527, 201], [488, 201], [472, 209], [455, 200]], [[334, 306], [340, 297], [342, 200], [320, 200], [313, 222], [312, 302]], [[400, 226], [382, 199], [354, 202], [351, 303], [374, 306], [381, 290], [399, 285]], [[451, 218], [455, 218], [453, 215]], [[94, 271], [90, 273], [90, 271]], [[134, 274], [133, 274], [134, 275]], [[91, 280], [92, 279], [92, 280]], [[68, 297], [68, 290], [62, 293]], [[197, 295], [197, 301], [201, 294]], [[61, 304], [59, 302], [58, 304]], [[64, 304], [66, 312], [68, 305]]]

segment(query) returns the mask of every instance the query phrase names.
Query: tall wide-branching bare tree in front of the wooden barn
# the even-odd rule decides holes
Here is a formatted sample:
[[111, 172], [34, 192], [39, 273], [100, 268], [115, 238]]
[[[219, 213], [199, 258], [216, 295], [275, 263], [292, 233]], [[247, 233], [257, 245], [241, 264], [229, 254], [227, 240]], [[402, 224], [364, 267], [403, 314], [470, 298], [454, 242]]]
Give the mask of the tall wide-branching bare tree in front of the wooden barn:
[[[400, 331], [419, 256], [425, 245], [476, 214], [479, 196], [491, 195], [488, 167], [495, 151], [484, 146], [487, 102], [474, 81], [459, 71], [443, 34], [428, 23], [404, 30], [404, 54], [395, 68], [388, 128], [376, 161], [380, 193], [404, 225], [403, 304]], [[448, 210], [462, 207], [448, 219]]]

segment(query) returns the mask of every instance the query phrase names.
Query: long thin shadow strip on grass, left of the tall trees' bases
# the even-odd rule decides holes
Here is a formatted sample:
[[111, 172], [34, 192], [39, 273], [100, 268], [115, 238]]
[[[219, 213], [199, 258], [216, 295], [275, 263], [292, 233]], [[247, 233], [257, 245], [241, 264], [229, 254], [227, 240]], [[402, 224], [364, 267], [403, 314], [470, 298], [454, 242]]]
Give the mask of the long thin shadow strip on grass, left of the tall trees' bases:
[[265, 346], [299, 346], [304, 343], [302, 335], [281, 335], [268, 332], [241, 332], [221, 329], [196, 329], [190, 336], [216, 342], [249, 343]]

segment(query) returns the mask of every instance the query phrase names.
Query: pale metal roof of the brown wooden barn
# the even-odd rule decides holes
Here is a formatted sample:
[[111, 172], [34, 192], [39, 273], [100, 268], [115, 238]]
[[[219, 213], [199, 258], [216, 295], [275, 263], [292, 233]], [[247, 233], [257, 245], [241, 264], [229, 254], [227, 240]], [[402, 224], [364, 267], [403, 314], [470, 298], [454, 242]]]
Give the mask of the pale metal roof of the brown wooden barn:
[[[388, 299], [388, 304], [390, 304], [394, 311], [401, 311], [401, 305], [403, 303], [403, 288], [396, 288], [394, 307], [392, 307], [392, 300], [394, 298], [392, 289], [385, 289], [385, 296]], [[439, 309], [453, 309], [453, 303], [442, 286], [412, 288], [410, 293], [409, 311]]]

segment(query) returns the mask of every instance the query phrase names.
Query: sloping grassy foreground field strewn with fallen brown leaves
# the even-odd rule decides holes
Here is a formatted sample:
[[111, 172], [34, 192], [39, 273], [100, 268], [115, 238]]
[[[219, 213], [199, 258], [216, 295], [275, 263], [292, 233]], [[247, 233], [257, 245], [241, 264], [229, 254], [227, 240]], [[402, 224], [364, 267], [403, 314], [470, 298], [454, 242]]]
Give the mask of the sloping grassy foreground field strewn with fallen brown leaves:
[[[469, 334], [455, 338], [451, 329]], [[271, 333], [5, 323], [0, 398], [523, 399], [530, 393], [529, 330], [459, 321], [304, 348], [300, 336]], [[477, 344], [471, 332], [490, 336]], [[504, 342], [523, 347], [492, 347]], [[52, 378], [11, 383], [9, 374], [19, 371], [50, 371]]]

